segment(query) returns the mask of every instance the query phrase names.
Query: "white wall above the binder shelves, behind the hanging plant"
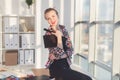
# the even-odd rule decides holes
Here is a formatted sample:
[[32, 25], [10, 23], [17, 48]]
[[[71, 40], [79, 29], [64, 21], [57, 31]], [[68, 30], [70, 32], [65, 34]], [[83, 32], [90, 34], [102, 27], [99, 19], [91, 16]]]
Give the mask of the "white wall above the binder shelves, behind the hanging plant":
[[[31, 6], [31, 14], [34, 13], [34, 4]], [[25, 0], [0, 0], [0, 14], [2, 15], [28, 15], [28, 6]]]

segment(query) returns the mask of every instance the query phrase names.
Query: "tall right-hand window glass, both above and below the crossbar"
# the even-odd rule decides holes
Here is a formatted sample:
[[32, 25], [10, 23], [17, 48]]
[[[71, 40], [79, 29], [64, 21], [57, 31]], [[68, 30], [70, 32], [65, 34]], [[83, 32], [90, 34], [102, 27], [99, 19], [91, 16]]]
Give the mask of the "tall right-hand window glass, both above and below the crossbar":
[[96, 59], [111, 66], [114, 0], [97, 0], [96, 4]]

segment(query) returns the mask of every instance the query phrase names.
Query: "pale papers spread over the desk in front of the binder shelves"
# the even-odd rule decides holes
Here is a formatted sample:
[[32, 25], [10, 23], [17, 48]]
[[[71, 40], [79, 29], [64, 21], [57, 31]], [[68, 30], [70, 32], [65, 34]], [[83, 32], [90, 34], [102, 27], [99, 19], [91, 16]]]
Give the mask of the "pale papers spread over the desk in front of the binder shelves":
[[11, 75], [17, 77], [26, 77], [27, 75], [34, 75], [32, 69], [34, 65], [16, 65], [16, 66], [1, 66], [0, 78], [5, 78]]

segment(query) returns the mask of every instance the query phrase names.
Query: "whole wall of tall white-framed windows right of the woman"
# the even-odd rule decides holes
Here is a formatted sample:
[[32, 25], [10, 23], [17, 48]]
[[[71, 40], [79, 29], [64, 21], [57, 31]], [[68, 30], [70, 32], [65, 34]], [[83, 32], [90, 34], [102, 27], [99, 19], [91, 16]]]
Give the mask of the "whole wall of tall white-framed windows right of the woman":
[[[116, 73], [120, 73], [120, 63], [116, 61], [120, 52], [117, 48], [120, 42], [118, 44], [115, 42], [120, 39], [116, 35], [120, 33], [118, 29], [120, 16], [117, 14], [119, 5], [116, 1], [119, 2], [119, 0], [75, 0], [77, 55], [73, 61], [83, 70], [90, 71], [96, 80], [120, 79], [119, 75], [116, 76]], [[118, 21], [117, 24], [115, 21]], [[115, 65], [115, 62], [118, 65]]]

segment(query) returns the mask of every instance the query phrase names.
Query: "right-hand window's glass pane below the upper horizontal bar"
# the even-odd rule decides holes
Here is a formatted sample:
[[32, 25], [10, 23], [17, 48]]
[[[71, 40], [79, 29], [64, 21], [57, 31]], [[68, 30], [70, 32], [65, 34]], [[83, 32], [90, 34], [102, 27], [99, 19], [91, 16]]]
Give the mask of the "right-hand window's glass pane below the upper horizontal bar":
[[96, 60], [111, 66], [112, 64], [112, 39], [113, 39], [113, 25], [111, 24], [97, 24], [97, 54]]

